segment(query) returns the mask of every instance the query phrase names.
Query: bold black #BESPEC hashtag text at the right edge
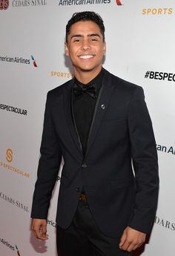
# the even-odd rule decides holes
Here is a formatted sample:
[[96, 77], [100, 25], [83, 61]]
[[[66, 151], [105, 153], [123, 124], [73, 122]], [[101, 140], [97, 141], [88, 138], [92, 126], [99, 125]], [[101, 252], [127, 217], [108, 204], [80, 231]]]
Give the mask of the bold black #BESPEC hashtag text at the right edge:
[[155, 79], [155, 80], [163, 80], [168, 82], [175, 82], [175, 73], [146, 71], [145, 79]]

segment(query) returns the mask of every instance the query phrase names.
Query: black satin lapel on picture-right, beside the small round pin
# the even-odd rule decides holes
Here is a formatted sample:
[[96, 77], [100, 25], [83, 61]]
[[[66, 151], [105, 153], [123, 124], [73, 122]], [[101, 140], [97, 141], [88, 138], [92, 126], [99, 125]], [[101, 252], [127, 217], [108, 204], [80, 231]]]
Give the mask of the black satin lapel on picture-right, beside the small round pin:
[[104, 78], [102, 79], [102, 88], [99, 92], [99, 97], [96, 102], [96, 108], [93, 113], [92, 123], [90, 125], [85, 158], [87, 157], [90, 147], [93, 144], [93, 140], [96, 137], [96, 133], [100, 128], [103, 116], [105, 115], [105, 111], [108, 108], [108, 102], [110, 101], [110, 96], [112, 95], [113, 91], [113, 85], [111, 80], [112, 78], [110, 73], [105, 70]]

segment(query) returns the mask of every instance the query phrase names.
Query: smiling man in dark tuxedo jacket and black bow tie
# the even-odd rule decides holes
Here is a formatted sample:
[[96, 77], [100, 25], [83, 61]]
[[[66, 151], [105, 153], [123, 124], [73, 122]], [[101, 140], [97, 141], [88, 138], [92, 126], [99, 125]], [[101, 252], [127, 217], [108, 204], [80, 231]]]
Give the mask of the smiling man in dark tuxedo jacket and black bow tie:
[[47, 94], [32, 229], [47, 239], [47, 211], [63, 157], [59, 256], [130, 255], [151, 231], [159, 187], [144, 93], [102, 68], [105, 27], [96, 13], [74, 13], [65, 51], [75, 78]]

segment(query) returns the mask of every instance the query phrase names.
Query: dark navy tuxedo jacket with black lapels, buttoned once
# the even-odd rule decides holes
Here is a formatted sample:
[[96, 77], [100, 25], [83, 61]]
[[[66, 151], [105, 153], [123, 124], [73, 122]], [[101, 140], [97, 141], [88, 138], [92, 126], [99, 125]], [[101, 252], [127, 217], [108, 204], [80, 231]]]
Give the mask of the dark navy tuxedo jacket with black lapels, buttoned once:
[[142, 88], [105, 70], [84, 157], [71, 114], [72, 86], [73, 79], [47, 93], [31, 217], [47, 219], [63, 157], [59, 226], [70, 225], [84, 186], [90, 211], [103, 233], [119, 237], [127, 226], [150, 232], [159, 177]]

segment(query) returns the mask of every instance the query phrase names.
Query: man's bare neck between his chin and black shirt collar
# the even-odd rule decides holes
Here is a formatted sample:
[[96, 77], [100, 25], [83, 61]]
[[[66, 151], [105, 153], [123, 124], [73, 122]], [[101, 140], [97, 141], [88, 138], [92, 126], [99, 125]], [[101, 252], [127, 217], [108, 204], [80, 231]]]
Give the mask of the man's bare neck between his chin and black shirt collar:
[[79, 82], [82, 82], [83, 84], [87, 84], [88, 82], [90, 82], [91, 80], [93, 80], [98, 74], [99, 72], [102, 70], [102, 66], [99, 67], [96, 70], [90, 70], [90, 71], [84, 71], [84, 70], [74, 70], [74, 75], [76, 77], [77, 80], [79, 80]]

